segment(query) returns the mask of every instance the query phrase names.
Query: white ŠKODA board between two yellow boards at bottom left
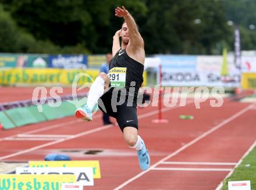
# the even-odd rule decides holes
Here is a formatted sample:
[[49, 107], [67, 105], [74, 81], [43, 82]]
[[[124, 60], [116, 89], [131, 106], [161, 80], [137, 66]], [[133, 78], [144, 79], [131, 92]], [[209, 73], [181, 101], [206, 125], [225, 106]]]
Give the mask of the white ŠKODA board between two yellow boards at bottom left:
[[16, 174], [74, 174], [80, 184], [94, 185], [92, 167], [16, 167]]

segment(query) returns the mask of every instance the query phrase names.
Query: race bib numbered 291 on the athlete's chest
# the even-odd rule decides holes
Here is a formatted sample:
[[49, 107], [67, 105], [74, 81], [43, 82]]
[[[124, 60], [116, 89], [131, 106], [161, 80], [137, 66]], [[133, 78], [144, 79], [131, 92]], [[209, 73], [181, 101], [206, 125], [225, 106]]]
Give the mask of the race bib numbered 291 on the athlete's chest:
[[111, 87], [125, 87], [126, 67], [113, 67], [108, 71]]

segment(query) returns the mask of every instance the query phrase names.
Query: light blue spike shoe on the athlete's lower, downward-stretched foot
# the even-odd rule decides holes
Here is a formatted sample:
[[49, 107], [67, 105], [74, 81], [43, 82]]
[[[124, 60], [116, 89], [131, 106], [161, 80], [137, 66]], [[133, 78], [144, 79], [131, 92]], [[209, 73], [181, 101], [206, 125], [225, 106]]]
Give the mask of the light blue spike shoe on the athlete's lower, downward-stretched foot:
[[140, 163], [141, 170], [147, 170], [150, 167], [150, 155], [148, 155], [148, 150], [144, 144], [143, 139], [141, 139], [143, 147], [141, 150], [137, 151], [138, 163]]

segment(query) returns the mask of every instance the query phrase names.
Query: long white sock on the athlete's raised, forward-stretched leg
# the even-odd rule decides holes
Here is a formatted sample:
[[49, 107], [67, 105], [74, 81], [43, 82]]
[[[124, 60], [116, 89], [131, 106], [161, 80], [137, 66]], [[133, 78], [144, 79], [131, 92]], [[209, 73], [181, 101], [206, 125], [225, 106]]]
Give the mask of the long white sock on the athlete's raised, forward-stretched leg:
[[98, 99], [104, 94], [104, 80], [101, 77], [97, 77], [94, 83], [91, 85], [87, 106], [90, 110], [93, 110], [94, 106], [98, 103]]

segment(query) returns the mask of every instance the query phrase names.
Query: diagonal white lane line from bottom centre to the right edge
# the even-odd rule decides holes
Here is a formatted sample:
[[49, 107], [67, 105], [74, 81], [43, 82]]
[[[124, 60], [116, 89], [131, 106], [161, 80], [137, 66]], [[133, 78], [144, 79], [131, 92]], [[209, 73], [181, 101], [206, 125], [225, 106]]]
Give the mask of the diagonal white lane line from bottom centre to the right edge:
[[211, 128], [211, 130], [208, 130], [207, 132], [204, 132], [199, 137], [195, 138], [193, 141], [190, 141], [188, 144], [186, 144], [186, 145], [182, 146], [181, 148], [177, 149], [175, 152], [170, 153], [170, 155], [168, 155], [168, 156], [164, 157], [163, 159], [159, 160], [157, 163], [153, 164], [148, 170], [145, 170], [145, 171], [142, 171], [141, 173], [138, 173], [137, 175], [135, 175], [134, 177], [130, 178], [129, 180], [123, 182], [121, 185], [119, 185], [118, 187], [116, 187], [113, 190], [121, 189], [121, 188], [125, 187], [127, 184], [130, 184], [130, 182], [133, 182], [137, 178], [141, 177], [141, 175], [144, 175], [145, 173], [148, 173], [148, 171], [151, 171], [152, 169], [157, 167], [162, 162], [165, 162], [166, 160], [170, 159], [170, 157], [173, 157], [173, 156], [177, 155], [178, 153], [182, 152], [182, 150], [188, 148], [191, 145], [194, 145], [195, 142], [200, 141], [200, 139], [206, 137], [207, 135], [209, 135], [212, 132], [218, 130], [219, 128], [221, 128], [225, 124], [227, 124], [230, 121], [232, 121], [232, 120], [236, 119], [237, 117], [241, 116], [241, 114], [246, 113], [249, 109], [251, 109], [251, 106], [253, 106], [253, 105], [249, 105], [249, 106], [245, 107], [244, 109], [240, 110], [239, 112], [237, 112], [236, 114], [233, 114], [233, 116], [231, 116], [228, 119], [222, 121], [222, 123], [219, 123], [217, 126]]

